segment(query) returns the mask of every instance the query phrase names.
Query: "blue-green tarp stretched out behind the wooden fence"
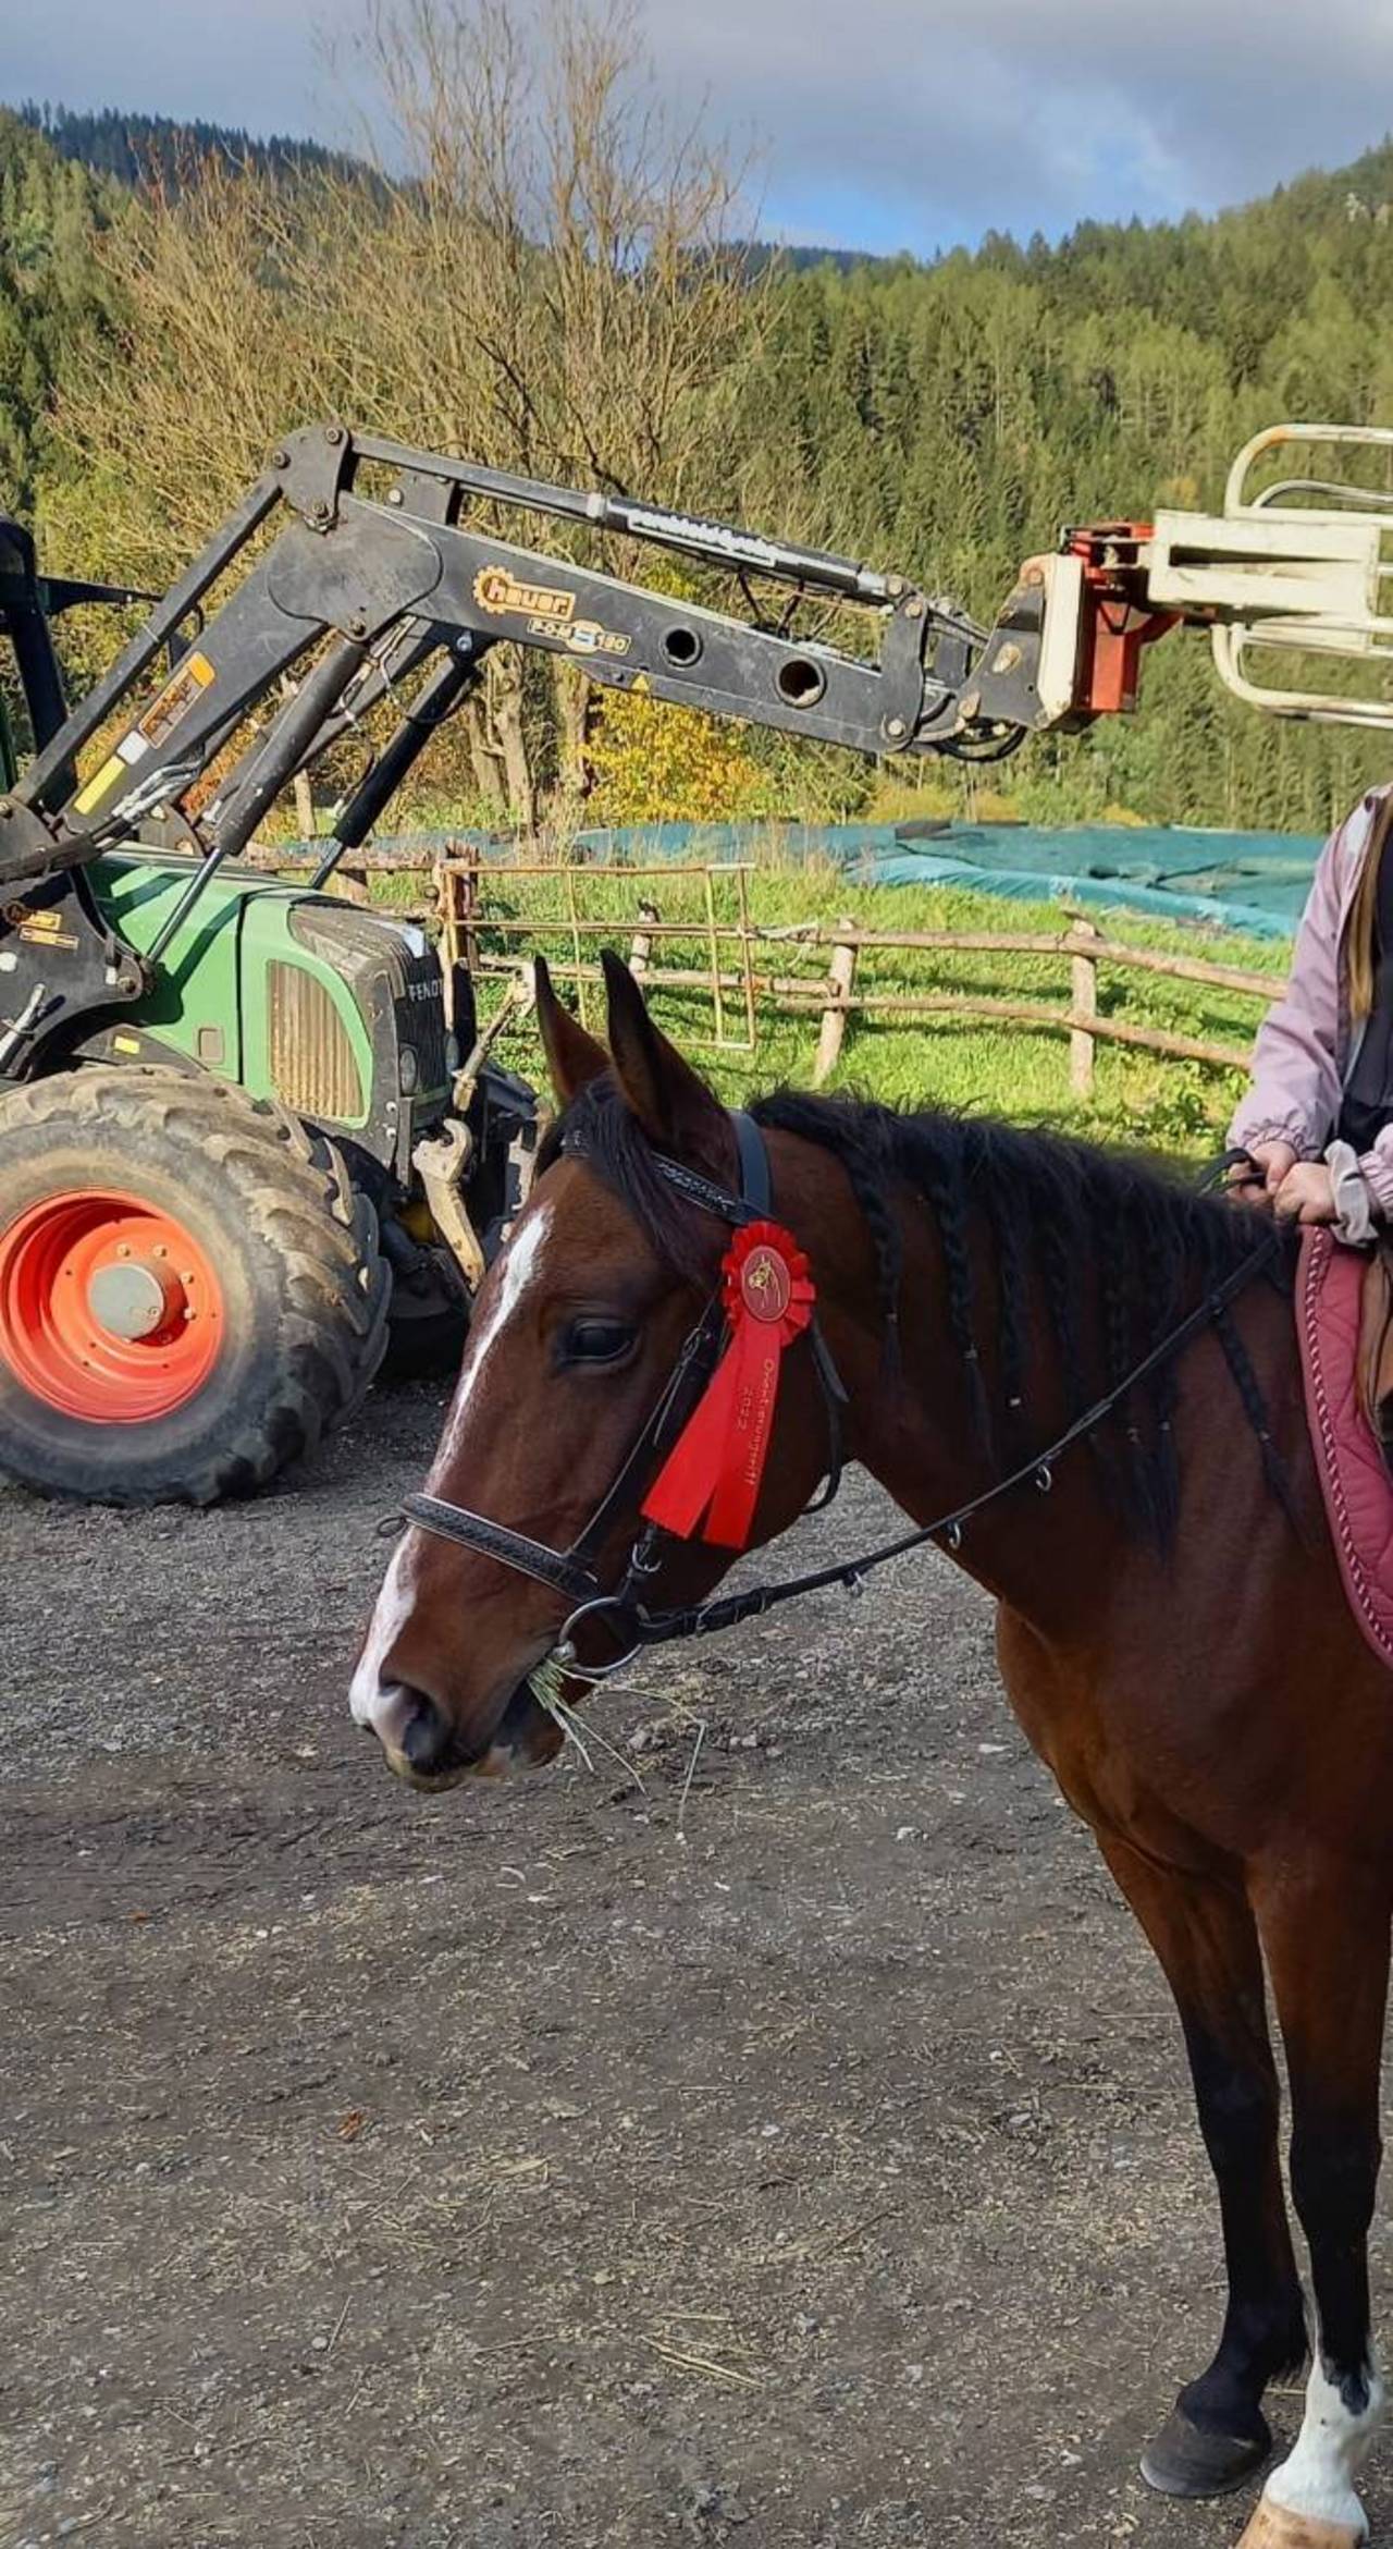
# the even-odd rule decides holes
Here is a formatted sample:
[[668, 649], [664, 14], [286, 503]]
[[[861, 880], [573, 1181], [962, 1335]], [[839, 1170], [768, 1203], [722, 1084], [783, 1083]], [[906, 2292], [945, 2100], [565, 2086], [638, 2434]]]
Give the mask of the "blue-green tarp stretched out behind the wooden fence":
[[[1169, 831], [1123, 823], [1042, 828], [1031, 823], [632, 823], [583, 831], [576, 851], [614, 867], [751, 856], [779, 841], [792, 859], [833, 859], [856, 885], [963, 885], [1016, 902], [1090, 902], [1161, 920], [1210, 920], [1261, 938], [1289, 938], [1317, 864], [1319, 841], [1278, 831]], [[491, 834], [402, 834], [395, 844], [446, 841], [507, 862], [512, 841]]]

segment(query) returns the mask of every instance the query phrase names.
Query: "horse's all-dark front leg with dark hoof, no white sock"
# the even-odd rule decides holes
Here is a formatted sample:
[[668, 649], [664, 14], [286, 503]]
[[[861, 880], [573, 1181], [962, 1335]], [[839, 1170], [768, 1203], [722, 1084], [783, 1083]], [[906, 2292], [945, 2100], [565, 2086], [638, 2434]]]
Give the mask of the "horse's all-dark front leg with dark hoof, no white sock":
[[1263, 2391], [1306, 2355], [1258, 1927], [1238, 1884], [1164, 1868], [1108, 1830], [1095, 1838], [1179, 2009], [1227, 2266], [1215, 2358], [1182, 2388], [1141, 2475], [1166, 2495], [1222, 2495], [1266, 2462]]

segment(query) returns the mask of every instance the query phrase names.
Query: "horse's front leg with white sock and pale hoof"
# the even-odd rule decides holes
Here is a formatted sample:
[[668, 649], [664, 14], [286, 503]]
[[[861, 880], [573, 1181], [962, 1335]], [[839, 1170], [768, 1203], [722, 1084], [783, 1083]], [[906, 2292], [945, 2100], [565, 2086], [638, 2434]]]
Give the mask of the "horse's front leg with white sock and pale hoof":
[[1253, 1886], [1291, 2075], [1291, 2195], [1317, 2294], [1306, 2414], [1263, 2488], [1248, 2549], [1355, 2549], [1355, 2478], [1383, 2414], [1370, 2340], [1368, 2228], [1388, 1998], [1388, 1884], [1345, 1861]]

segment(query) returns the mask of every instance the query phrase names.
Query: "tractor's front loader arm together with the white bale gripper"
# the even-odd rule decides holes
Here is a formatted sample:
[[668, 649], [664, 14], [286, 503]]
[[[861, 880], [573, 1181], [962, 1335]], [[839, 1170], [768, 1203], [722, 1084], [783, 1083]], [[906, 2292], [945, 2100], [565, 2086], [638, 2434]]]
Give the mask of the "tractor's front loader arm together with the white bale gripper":
[[[1026, 561], [988, 630], [904, 576], [828, 551], [308, 426], [272, 454], [145, 630], [0, 795], [0, 887], [81, 867], [117, 841], [160, 839], [201, 859], [173, 930], [290, 777], [392, 696], [397, 732], [349, 798], [329, 867], [364, 839], [499, 640], [581, 663], [609, 688], [853, 752], [998, 760], [1031, 732], [1131, 709], [1143, 647], [1197, 625], [1243, 698], [1281, 716], [1388, 726], [1383, 691], [1373, 701], [1273, 691], [1245, 673], [1248, 647], [1347, 658], [1375, 675], [1393, 655], [1383, 614], [1393, 495], [1309, 477], [1253, 492], [1253, 469], [1283, 444], [1393, 454], [1393, 431], [1271, 428], [1235, 461], [1222, 517], [1064, 533], [1057, 553]], [[479, 510], [553, 515], [733, 574], [751, 617], [520, 548], [474, 520]], [[239, 563], [242, 581], [224, 596]], [[871, 614], [876, 650], [797, 637], [787, 612], [769, 625], [754, 584]], [[173, 673], [148, 696], [155, 658], [181, 642]], [[418, 673], [423, 686], [402, 706], [397, 683]], [[267, 701], [272, 714], [191, 811], [183, 800]], [[79, 755], [97, 739], [104, 760], [76, 785]]]

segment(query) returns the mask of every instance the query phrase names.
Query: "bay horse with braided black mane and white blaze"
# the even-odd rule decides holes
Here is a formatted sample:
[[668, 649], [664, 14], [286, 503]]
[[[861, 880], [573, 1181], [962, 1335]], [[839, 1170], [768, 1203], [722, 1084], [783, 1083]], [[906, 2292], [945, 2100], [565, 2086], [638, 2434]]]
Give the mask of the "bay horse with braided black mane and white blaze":
[[[606, 989], [609, 1050], [537, 966], [560, 1114], [479, 1292], [428, 1481], [435, 1514], [476, 1529], [466, 1545], [405, 1529], [354, 1675], [354, 1718], [425, 1789], [560, 1749], [532, 1690], [576, 1608], [558, 1570], [619, 1583], [649, 1484], [634, 1443], [652, 1440], [718, 1295], [713, 1195], [741, 1178], [736, 1119], [609, 956]], [[1306, 2360], [1266, 1968], [1317, 2343], [1296, 2447], [1245, 2541], [1352, 2549], [1383, 2406], [1368, 2228], [1393, 1677], [1352, 1621], [1322, 1514], [1291, 1249], [1261, 1211], [1085, 1142], [800, 1094], [751, 1119], [817, 1328], [784, 1356], [749, 1547], [787, 1529], [828, 1471], [828, 1364], [848, 1458], [914, 1522], [986, 1496], [940, 1537], [960, 1537], [958, 1563], [996, 1596], [1011, 1705], [1161, 1960], [1217, 2179], [1227, 2309], [1143, 2475], [1174, 2495], [1240, 2485], [1271, 2455], [1266, 2386]], [[1182, 1323], [1184, 1351], [1156, 1356]], [[1138, 1361], [1146, 1376], [1113, 1402]], [[1080, 1410], [1082, 1438], [1034, 1473], [1036, 1494], [1021, 1461]], [[558, 1555], [581, 1547], [586, 1570]], [[517, 1552], [535, 1552], [527, 1573]], [[731, 1557], [662, 1537], [649, 1570], [667, 1603], [700, 1603]], [[578, 1700], [588, 1685], [560, 1687]]]

